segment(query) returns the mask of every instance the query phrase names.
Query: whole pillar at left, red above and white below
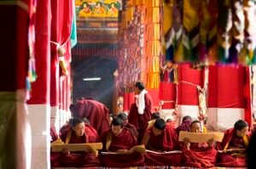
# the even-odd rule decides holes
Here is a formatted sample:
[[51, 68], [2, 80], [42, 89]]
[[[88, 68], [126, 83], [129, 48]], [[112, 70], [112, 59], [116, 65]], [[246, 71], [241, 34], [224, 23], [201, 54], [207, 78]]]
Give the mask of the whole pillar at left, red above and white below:
[[[35, 59], [37, 80], [28, 100], [32, 126], [32, 167], [49, 168], [49, 77], [50, 77], [50, 2], [38, 1], [35, 15]], [[42, 162], [44, 161], [44, 162]]]

